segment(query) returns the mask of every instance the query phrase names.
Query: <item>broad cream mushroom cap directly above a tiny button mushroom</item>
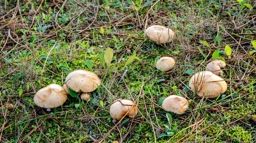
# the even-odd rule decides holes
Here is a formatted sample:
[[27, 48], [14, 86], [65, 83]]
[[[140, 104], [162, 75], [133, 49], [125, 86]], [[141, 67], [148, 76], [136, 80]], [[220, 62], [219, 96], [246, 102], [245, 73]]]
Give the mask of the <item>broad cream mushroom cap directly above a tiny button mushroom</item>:
[[99, 77], [87, 70], [72, 71], [66, 77], [66, 85], [73, 91], [92, 92], [101, 84]]

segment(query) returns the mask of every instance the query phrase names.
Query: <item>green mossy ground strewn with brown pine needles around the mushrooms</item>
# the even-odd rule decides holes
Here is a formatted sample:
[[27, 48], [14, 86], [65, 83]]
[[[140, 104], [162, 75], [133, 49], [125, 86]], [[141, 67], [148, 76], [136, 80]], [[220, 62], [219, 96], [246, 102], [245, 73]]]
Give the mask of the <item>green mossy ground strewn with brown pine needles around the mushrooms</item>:
[[[0, 142], [255, 142], [255, 5], [0, 1]], [[144, 30], [153, 24], [173, 29], [174, 41], [147, 39]], [[107, 48], [113, 49], [110, 65], [104, 60]], [[137, 58], [128, 62], [132, 55]], [[176, 61], [168, 72], [155, 68], [163, 56]], [[196, 98], [190, 77], [217, 58], [227, 63], [227, 91]], [[102, 81], [90, 101], [69, 96], [51, 110], [34, 104], [40, 88], [63, 85], [78, 69], [93, 71]], [[158, 101], [172, 94], [190, 106], [167, 119]], [[137, 101], [138, 114], [116, 125], [109, 108], [118, 98]], [[8, 104], [14, 107], [8, 110]], [[159, 130], [174, 132], [158, 138]]]

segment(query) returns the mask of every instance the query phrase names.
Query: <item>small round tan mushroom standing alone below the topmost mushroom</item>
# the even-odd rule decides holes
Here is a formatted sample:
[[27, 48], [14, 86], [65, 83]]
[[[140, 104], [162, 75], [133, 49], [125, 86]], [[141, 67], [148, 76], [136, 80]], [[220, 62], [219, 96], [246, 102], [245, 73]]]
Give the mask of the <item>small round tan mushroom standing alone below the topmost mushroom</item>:
[[156, 62], [156, 68], [161, 71], [168, 71], [173, 68], [175, 61], [171, 57], [161, 57]]

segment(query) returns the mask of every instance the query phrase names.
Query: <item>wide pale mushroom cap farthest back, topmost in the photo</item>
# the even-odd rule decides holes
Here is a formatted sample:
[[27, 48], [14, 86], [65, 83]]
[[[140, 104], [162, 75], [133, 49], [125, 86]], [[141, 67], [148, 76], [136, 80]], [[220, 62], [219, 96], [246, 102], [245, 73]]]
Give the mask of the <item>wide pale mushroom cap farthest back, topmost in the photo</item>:
[[145, 35], [149, 37], [152, 41], [159, 43], [171, 42], [174, 38], [174, 32], [164, 26], [150, 26], [146, 29]]

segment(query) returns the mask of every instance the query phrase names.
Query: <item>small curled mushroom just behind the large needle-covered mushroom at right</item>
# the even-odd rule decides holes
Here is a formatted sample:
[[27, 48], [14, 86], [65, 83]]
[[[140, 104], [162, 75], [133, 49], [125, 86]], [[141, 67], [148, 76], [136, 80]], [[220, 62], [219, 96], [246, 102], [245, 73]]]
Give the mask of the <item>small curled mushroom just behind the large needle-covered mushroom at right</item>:
[[209, 64], [206, 66], [206, 71], [212, 71], [212, 73], [218, 75], [219, 73], [222, 74], [221, 67], [225, 67], [226, 63], [221, 60], [214, 60], [211, 61]]

